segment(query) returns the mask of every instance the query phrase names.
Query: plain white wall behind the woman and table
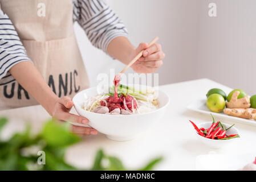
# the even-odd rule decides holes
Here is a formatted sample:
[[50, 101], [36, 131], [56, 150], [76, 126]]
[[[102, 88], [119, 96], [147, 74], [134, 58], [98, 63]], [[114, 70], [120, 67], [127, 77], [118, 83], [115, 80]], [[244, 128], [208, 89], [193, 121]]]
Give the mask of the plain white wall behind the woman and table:
[[[255, 0], [107, 2], [124, 21], [134, 46], [160, 37], [166, 53], [158, 71], [160, 85], [207, 77], [256, 94]], [[217, 17], [208, 15], [211, 2], [217, 5]], [[110, 68], [121, 71], [124, 65], [92, 47], [78, 24], [75, 32], [91, 86], [98, 73], [109, 73]]]

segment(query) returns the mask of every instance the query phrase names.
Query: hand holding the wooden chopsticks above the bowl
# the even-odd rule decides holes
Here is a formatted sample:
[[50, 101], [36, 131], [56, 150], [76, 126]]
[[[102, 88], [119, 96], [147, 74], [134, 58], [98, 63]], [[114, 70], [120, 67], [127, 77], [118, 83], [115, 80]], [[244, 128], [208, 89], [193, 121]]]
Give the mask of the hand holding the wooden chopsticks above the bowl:
[[[143, 56], [140, 57], [131, 67], [137, 73], [153, 73], [161, 67], [162, 60], [165, 57], [160, 44], [153, 44], [151, 47], [147, 43], [141, 43], [133, 53], [135, 57], [140, 51], [143, 51]], [[133, 58], [132, 58], [133, 59]], [[131, 60], [132, 60], [131, 59]]]

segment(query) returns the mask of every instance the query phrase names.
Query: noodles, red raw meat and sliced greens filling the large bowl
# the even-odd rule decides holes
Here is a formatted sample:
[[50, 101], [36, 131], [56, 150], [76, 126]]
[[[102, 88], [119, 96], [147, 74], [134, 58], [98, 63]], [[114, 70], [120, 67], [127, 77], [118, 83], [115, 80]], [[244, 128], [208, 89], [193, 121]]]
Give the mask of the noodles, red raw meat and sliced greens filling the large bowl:
[[99, 114], [143, 114], [159, 109], [159, 102], [156, 90], [149, 86], [137, 90], [131, 86], [118, 86], [115, 82], [109, 93], [87, 97], [83, 109]]

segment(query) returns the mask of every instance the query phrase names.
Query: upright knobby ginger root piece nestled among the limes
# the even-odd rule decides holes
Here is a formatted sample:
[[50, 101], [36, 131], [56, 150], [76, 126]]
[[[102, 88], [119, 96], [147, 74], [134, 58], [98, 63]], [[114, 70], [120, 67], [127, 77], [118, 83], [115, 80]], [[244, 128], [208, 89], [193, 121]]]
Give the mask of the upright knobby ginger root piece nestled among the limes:
[[231, 100], [226, 103], [227, 108], [235, 109], [235, 108], [242, 108], [246, 109], [251, 106], [250, 104], [250, 98], [248, 96], [245, 96], [243, 98], [237, 98], [240, 94], [239, 91], [235, 91], [231, 97]]

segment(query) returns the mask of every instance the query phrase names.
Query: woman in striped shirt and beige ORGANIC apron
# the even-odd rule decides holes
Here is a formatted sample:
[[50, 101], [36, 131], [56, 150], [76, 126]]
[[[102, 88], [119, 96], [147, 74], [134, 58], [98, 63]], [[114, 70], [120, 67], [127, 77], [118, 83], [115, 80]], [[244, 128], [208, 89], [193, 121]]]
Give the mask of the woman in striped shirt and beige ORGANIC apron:
[[[74, 36], [78, 21], [91, 43], [128, 64], [145, 50], [133, 70], [152, 73], [165, 55], [159, 44], [134, 48], [118, 16], [102, 0], [0, 0], [0, 109], [40, 104], [53, 117], [87, 124], [70, 114], [70, 97], [89, 87]], [[72, 126], [76, 134], [97, 134]]]

